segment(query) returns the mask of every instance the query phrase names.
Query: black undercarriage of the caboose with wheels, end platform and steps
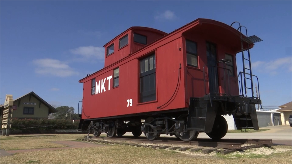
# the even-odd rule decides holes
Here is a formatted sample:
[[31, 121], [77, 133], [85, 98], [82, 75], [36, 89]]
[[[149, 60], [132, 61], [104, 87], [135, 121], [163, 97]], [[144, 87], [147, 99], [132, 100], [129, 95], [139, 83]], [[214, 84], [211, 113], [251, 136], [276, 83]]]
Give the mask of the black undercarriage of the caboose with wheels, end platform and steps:
[[222, 115], [232, 115], [237, 129], [258, 130], [255, 104], [261, 104], [261, 100], [208, 94], [200, 98], [190, 97], [188, 110], [177, 114], [178, 117], [174, 117], [175, 114], [153, 115], [147, 117], [144, 123], [137, 118], [128, 121], [122, 118], [87, 121], [89, 124], [83, 127], [87, 126], [95, 137], [102, 132], [105, 132], [109, 138], [132, 132], [134, 137], [139, 137], [144, 133], [148, 140], [155, 140], [161, 134], [166, 134], [189, 142], [194, 141], [200, 132], [205, 132], [213, 140], [219, 140], [226, 135], [228, 130], [227, 121]]

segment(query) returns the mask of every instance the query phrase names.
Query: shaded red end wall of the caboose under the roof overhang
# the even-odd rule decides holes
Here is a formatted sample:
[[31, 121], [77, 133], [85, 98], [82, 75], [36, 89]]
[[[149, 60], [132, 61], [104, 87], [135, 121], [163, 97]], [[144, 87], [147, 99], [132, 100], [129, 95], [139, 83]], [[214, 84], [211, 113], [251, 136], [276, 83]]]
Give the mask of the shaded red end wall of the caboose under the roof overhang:
[[[184, 43], [184, 54], [185, 52], [185, 39], [189, 39], [193, 42], [197, 43], [197, 54], [198, 54], [198, 68], [186, 66], [186, 97], [201, 97], [205, 94], [205, 86], [206, 86], [206, 93], [209, 94], [209, 84], [208, 84], [208, 68], [207, 68], [207, 51], [206, 51], [206, 42], [211, 42], [216, 45], [216, 53], [217, 53], [217, 60], [225, 59], [225, 54], [229, 54], [233, 56], [233, 67], [235, 76], [229, 75], [229, 83], [230, 83], [230, 94], [231, 95], [239, 95], [238, 91], [238, 80], [237, 80], [237, 67], [236, 67], [236, 58], [235, 58], [235, 51], [232, 50], [231, 46], [228, 44], [224, 44], [225, 42], [216, 39], [214, 35], [210, 35], [209, 33], [203, 33], [200, 30], [187, 32], [183, 34], [183, 43]], [[184, 56], [186, 60], [186, 56]], [[203, 69], [203, 67], [205, 68]], [[218, 67], [224, 67], [223, 64], [217, 63]], [[204, 73], [205, 71], [205, 86], [204, 86]], [[228, 72], [226, 70], [225, 73], [225, 80], [226, 80], [226, 89], [224, 86], [224, 70], [218, 69], [218, 78], [219, 78], [219, 92], [220, 93], [227, 93], [228, 92]], [[188, 103], [189, 100], [187, 99], [186, 102]]]

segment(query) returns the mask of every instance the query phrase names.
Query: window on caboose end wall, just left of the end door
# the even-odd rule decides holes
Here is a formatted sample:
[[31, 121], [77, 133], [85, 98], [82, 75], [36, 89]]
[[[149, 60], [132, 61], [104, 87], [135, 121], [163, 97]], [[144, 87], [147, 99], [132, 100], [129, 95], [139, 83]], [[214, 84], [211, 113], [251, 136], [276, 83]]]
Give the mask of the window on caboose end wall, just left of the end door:
[[190, 40], [186, 40], [186, 63], [198, 67], [197, 44]]

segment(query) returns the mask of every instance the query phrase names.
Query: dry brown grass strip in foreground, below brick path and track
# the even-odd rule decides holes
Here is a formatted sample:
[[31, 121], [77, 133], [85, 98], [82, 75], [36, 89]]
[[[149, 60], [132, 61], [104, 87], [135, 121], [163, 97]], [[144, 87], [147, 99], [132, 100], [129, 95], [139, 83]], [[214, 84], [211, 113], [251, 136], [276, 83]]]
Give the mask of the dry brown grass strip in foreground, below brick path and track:
[[17, 153], [1, 163], [292, 163], [292, 152], [261, 156], [193, 156], [180, 152], [124, 145]]

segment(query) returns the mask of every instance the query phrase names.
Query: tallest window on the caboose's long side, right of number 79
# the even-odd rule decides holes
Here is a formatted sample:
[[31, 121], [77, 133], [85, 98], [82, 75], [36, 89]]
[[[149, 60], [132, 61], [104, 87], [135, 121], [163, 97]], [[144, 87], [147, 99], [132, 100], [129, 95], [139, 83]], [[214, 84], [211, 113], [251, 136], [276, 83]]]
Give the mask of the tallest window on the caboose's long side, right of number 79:
[[140, 102], [156, 100], [155, 54], [140, 60]]

